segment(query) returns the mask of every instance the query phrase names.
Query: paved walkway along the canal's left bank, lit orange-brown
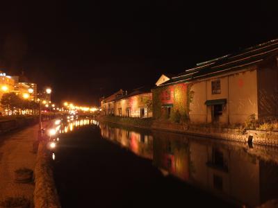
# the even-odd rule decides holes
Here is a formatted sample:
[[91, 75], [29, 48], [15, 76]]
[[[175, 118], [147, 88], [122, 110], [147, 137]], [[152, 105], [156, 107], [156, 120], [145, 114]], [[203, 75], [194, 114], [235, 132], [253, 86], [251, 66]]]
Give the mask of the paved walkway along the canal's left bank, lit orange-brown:
[[15, 183], [14, 171], [18, 168], [34, 169], [36, 154], [32, 153], [32, 148], [33, 141], [37, 137], [38, 125], [10, 135], [0, 135], [0, 198], [26, 196], [33, 201], [34, 184]]

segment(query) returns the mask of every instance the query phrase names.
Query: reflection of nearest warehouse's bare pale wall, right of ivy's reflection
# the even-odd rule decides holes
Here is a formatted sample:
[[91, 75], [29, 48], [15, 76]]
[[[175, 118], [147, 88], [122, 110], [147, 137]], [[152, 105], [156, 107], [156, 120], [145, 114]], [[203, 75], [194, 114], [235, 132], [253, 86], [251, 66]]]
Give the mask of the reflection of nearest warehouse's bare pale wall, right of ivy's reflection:
[[218, 196], [250, 206], [277, 198], [278, 168], [269, 162], [195, 141], [190, 141], [190, 162], [193, 183]]

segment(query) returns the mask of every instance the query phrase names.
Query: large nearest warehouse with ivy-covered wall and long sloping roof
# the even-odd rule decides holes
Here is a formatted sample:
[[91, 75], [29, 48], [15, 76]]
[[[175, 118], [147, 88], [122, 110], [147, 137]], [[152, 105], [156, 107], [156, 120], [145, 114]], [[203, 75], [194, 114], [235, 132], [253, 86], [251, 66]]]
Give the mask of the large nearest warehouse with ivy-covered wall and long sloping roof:
[[[278, 40], [198, 63], [153, 89], [154, 117], [195, 123], [244, 123], [277, 117]], [[163, 78], [165, 81], [163, 82]]]

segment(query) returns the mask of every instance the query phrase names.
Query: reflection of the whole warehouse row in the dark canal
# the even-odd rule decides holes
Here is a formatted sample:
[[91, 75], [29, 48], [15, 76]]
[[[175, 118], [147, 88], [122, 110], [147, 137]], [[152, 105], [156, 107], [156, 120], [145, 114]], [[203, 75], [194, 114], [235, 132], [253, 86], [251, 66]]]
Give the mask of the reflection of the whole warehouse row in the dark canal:
[[256, 206], [278, 198], [277, 148], [194, 138], [96, 123], [101, 136], [153, 160], [163, 175], [205, 189], [237, 205]]

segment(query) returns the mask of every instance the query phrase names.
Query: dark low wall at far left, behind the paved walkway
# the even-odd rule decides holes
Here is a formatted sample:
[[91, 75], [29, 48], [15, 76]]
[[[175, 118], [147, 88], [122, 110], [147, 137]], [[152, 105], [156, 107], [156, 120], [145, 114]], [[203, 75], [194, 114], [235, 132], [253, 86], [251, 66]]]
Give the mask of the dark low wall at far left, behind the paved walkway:
[[38, 123], [38, 116], [17, 116], [14, 119], [0, 121], [0, 135], [35, 123]]

